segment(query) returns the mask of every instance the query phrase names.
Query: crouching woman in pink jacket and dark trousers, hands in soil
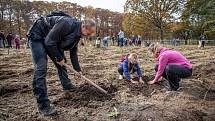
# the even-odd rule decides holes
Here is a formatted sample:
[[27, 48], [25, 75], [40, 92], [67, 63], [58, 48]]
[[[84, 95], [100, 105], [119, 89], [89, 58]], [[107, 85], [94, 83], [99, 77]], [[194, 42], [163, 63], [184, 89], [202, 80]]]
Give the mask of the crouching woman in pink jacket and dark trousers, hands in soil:
[[169, 81], [170, 90], [177, 91], [181, 78], [192, 75], [192, 64], [180, 52], [162, 48], [154, 43], [149, 46], [148, 51], [158, 61], [155, 78], [148, 84], [156, 83], [163, 76]]

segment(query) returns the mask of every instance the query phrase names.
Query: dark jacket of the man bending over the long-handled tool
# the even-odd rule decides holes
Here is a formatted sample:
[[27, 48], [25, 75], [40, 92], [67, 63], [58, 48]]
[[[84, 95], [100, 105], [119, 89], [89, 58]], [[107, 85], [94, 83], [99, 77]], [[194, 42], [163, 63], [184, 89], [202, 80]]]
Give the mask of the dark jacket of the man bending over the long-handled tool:
[[81, 23], [70, 16], [49, 16], [36, 20], [28, 32], [32, 41], [43, 41], [56, 61], [64, 59], [60, 50], [69, 50], [72, 65], [80, 71], [77, 57], [77, 46], [81, 38]]

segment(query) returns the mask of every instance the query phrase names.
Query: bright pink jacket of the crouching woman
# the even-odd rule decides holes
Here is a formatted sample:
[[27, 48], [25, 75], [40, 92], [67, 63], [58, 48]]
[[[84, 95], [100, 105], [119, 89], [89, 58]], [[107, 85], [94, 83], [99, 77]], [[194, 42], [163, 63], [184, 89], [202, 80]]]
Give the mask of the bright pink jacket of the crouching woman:
[[166, 65], [175, 64], [192, 68], [192, 64], [187, 60], [180, 52], [169, 50], [167, 48], [161, 48], [158, 56], [158, 71], [155, 76], [155, 80], [158, 81], [162, 76]]

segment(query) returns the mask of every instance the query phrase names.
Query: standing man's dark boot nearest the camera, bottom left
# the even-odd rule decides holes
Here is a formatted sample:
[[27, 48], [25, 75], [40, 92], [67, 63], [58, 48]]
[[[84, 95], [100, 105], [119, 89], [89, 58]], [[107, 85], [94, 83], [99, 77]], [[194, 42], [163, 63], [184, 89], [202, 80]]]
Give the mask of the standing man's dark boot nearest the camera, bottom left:
[[53, 106], [50, 106], [49, 103], [38, 104], [38, 110], [44, 116], [55, 116], [57, 115], [57, 111]]

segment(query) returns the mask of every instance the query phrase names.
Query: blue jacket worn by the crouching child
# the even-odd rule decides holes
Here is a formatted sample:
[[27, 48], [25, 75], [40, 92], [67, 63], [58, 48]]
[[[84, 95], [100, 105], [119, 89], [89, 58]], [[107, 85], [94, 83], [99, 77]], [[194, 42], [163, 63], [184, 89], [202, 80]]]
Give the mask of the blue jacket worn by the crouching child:
[[[123, 74], [125, 75], [127, 80], [131, 80], [131, 76], [129, 74], [129, 68], [128, 68], [128, 58], [126, 58], [120, 65], [119, 68], [123, 70]], [[142, 77], [142, 71], [140, 70], [139, 64], [134, 64], [135, 69], [137, 70], [137, 74], [139, 77]]]

